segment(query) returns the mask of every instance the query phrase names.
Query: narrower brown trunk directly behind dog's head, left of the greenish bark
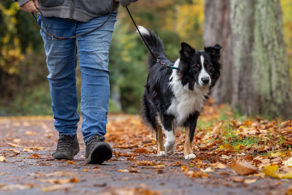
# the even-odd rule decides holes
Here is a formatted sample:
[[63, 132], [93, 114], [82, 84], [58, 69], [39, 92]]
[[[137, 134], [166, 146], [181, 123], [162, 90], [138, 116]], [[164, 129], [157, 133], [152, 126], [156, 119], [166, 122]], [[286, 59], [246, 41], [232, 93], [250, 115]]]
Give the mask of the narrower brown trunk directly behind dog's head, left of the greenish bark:
[[230, 27], [230, 2], [229, 0], [214, 1], [205, 0], [204, 5], [204, 42], [211, 46], [220, 44], [221, 59], [224, 68], [221, 72], [221, 79], [217, 81], [212, 91], [212, 97], [216, 104], [222, 102], [231, 103], [232, 94], [232, 53], [231, 48], [231, 27]]

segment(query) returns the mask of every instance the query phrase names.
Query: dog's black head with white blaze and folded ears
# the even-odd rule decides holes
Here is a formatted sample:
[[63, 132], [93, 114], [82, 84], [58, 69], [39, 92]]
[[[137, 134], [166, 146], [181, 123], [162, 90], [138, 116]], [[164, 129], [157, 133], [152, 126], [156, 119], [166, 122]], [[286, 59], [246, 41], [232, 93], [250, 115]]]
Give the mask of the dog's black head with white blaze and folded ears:
[[183, 85], [209, 86], [211, 89], [220, 77], [220, 49], [218, 44], [196, 51], [189, 44], [182, 42], [180, 50], [179, 79]]

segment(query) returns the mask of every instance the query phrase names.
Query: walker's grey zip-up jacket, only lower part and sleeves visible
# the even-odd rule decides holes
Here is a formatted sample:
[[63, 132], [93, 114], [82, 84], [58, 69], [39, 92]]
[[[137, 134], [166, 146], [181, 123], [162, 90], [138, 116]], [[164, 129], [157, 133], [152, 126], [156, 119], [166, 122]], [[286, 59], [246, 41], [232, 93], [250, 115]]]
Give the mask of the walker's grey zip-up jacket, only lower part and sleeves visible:
[[[21, 7], [29, 0], [14, 0]], [[88, 22], [111, 11], [114, 0], [39, 0], [40, 10], [46, 17], [68, 18], [81, 22]], [[119, 5], [127, 7], [138, 0], [119, 0], [113, 2], [112, 13], [118, 13]]]

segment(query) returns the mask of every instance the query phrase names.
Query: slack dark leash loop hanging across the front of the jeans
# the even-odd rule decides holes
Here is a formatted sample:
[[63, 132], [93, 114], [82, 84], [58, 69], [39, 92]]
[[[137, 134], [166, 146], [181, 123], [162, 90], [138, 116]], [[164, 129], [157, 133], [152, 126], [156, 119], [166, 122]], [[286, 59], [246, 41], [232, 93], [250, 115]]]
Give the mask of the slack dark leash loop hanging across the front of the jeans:
[[44, 22], [45, 30], [46, 30], [47, 32], [46, 32], [46, 31], [41, 27], [41, 25], [37, 22], [37, 18], [35, 17], [34, 13], [31, 13], [31, 14], [33, 14], [33, 18], [35, 19], [35, 21], [37, 22], [38, 26], [41, 28], [41, 30], [42, 30], [46, 35], [48, 35], [49, 37], [52, 37], [52, 40], [54, 40], [54, 38], [55, 38], [55, 39], [59, 39], [60, 41], [62, 41], [62, 40], [67, 40], [67, 39], [71, 39], [71, 38], [81, 37], [81, 36], [83, 36], [83, 35], [85, 35], [85, 34], [91, 33], [91, 32], [93, 32], [93, 31], [99, 29], [100, 27], [102, 27], [102, 26], [108, 21], [108, 19], [110, 19], [110, 17], [111, 17], [111, 13], [112, 13], [113, 5], [114, 5], [114, 0], [113, 0], [113, 2], [112, 2], [112, 4], [111, 4], [111, 11], [110, 11], [109, 16], [107, 17], [107, 19], [106, 19], [106, 20], [105, 20], [100, 26], [98, 26], [98, 27], [96, 27], [95, 29], [92, 29], [92, 30], [90, 30], [90, 31], [88, 31], [88, 32], [85, 32], [85, 33], [83, 33], [83, 34], [79, 34], [79, 35], [75, 35], [75, 36], [71, 36], [71, 37], [65, 37], [65, 38], [63, 38], [63, 37], [57, 37], [57, 36], [53, 35], [53, 34], [48, 30], [48, 28], [47, 28], [47, 26], [46, 26], [46, 23], [45, 23], [45, 18], [44, 18], [44, 16], [43, 16], [43, 13], [41, 12], [41, 10], [40, 10], [39, 8], [37, 8], [37, 10], [39, 10], [39, 12], [40, 12], [40, 14], [41, 14], [41, 19], [42, 19], [42, 21]]

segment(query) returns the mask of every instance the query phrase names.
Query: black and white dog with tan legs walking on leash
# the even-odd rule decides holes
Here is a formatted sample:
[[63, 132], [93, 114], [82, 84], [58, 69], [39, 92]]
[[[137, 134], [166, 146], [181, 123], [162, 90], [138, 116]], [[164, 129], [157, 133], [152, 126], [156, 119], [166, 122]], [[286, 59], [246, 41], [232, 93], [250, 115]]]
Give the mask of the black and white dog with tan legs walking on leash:
[[[204, 102], [220, 78], [220, 49], [222, 46], [205, 46], [195, 50], [182, 42], [180, 57], [175, 61], [167, 58], [162, 40], [151, 30], [138, 26], [147, 45], [157, 58], [167, 65], [179, 68], [164, 68], [148, 55], [147, 82], [142, 94], [139, 115], [143, 123], [156, 133], [157, 156], [166, 156], [175, 151], [174, 133], [185, 128], [184, 157], [193, 159], [192, 142]], [[166, 140], [163, 145], [163, 133]]]

